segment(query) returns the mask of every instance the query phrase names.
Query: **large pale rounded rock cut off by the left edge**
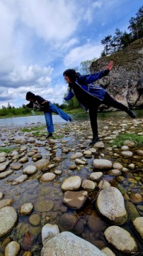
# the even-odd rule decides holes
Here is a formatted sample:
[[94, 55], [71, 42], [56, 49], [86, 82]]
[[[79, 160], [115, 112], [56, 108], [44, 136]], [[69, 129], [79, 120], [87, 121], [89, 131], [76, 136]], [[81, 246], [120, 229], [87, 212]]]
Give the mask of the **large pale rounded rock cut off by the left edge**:
[[17, 222], [18, 215], [11, 206], [6, 206], [0, 210], [0, 238], [7, 235]]

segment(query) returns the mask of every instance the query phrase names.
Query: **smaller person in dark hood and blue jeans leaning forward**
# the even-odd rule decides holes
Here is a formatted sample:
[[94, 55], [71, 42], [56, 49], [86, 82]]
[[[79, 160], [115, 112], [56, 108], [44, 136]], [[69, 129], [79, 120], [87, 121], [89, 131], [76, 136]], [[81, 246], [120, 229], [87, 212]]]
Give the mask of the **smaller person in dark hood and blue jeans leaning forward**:
[[46, 138], [52, 137], [52, 132], [55, 131], [54, 124], [52, 122], [52, 112], [54, 112], [55, 114], [59, 114], [62, 119], [71, 122], [71, 117], [69, 116], [69, 114], [62, 111], [55, 104], [52, 104], [52, 102], [44, 100], [39, 95], [35, 95], [33, 92], [27, 92], [25, 98], [26, 100], [30, 101], [28, 105], [25, 105], [25, 107], [33, 108], [34, 110], [44, 112], [48, 132]]

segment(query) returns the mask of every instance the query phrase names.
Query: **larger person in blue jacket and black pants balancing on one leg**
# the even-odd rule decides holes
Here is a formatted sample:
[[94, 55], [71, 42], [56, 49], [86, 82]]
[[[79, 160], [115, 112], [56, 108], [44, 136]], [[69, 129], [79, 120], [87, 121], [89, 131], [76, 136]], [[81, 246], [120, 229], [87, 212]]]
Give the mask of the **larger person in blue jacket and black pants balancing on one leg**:
[[109, 107], [115, 107], [118, 110], [123, 110], [132, 118], [136, 117], [136, 114], [132, 112], [132, 110], [122, 103], [114, 100], [113, 97], [111, 97], [109, 93], [101, 87], [101, 85], [93, 84], [96, 80], [108, 75], [112, 68], [113, 61], [110, 61], [105, 70], [90, 75], [81, 75], [80, 73], [76, 73], [74, 69], [65, 70], [63, 73], [64, 80], [69, 84], [69, 93], [67, 97], [64, 97], [64, 100], [71, 100], [75, 95], [81, 107], [83, 107], [84, 110], [89, 111], [91, 129], [93, 132], [93, 139], [91, 140], [90, 145], [99, 141], [97, 114], [98, 107], [101, 104], [108, 105]]

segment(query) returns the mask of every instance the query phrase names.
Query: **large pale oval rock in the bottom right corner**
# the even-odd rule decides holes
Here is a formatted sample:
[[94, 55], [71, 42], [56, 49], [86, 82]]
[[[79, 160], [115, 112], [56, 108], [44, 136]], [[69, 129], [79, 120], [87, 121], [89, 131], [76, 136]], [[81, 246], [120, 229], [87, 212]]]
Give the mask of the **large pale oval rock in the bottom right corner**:
[[137, 242], [127, 230], [113, 225], [105, 230], [104, 235], [110, 245], [113, 245], [115, 249], [125, 253], [125, 255], [137, 252]]

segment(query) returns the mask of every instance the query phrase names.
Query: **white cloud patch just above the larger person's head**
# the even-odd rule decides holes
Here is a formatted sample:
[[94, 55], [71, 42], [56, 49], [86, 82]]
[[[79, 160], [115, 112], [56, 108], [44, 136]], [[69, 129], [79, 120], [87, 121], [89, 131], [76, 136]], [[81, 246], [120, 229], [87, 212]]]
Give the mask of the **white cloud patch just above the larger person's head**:
[[98, 58], [103, 50], [103, 46], [93, 45], [91, 43], [86, 43], [84, 46], [79, 46], [72, 49], [64, 58], [64, 65], [66, 67], [73, 68], [84, 60], [92, 60], [93, 58]]

